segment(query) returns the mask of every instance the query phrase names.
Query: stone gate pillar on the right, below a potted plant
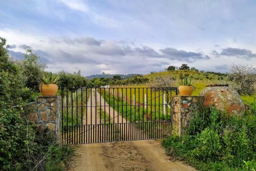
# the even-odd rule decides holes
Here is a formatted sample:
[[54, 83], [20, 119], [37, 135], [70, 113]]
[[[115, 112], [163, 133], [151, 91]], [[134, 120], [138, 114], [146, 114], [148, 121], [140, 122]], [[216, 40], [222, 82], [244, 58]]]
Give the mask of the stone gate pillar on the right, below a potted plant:
[[189, 124], [189, 119], [203, 102], [202, 96], [172, 97], [172, 135], [181, 136]]

